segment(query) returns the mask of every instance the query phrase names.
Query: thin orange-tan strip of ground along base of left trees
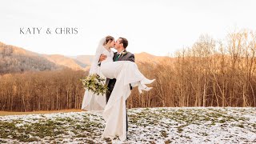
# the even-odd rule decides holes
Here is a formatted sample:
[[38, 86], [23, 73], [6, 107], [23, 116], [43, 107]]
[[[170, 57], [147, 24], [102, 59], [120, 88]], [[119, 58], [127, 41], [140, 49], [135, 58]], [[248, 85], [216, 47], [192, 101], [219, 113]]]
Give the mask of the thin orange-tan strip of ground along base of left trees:
[[0, 111], [0, 116], [3, 116], [3, 115], [21, 115], [21, 114], [69, 113], [69, 112], [80, 112], [80, 111], [86, 111], [86, 110], [70, 109], [70, 110], [50, 110], [50, 111], [30, 111], [30, 112]]

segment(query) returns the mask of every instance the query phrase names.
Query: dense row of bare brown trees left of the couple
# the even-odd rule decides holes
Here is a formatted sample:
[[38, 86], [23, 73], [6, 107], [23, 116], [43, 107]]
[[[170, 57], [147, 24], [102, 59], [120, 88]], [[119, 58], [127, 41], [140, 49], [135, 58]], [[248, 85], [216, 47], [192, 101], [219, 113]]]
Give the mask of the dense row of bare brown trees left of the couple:
[[0, 76], [0, 110], [79, 109], [84, 89], [82, 70], [55, 70]]

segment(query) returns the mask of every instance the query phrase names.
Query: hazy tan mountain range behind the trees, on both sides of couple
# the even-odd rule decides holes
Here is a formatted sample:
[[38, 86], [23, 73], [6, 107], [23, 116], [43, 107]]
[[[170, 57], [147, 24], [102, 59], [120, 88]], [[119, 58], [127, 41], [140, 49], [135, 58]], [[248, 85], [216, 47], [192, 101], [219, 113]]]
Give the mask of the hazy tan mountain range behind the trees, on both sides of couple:
[[[161, 62], [166, 57], [159, 57], [145, 52], [135, 55], [135, 62]], [[0, 74], [23, 71], [89, 70], [94, 55], [64, 56], [60, 54], [38, 54], [18, 46], [0, 42]]]

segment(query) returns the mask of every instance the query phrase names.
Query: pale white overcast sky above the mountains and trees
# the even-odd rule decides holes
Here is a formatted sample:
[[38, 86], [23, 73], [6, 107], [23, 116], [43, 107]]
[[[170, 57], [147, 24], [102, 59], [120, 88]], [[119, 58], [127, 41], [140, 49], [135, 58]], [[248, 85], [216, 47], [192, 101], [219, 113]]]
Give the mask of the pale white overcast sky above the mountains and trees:
[[[166, 56], [202, 34], [220, 40], [234, 28], [256, 30], [255, 6], [254, 0], [0, 0], [0, 42], [40, 54], [92, 55], [112, 35], [127, 38], [132, 53]], [[24, 32], [34, 27], [40, 34]], [[60, 28], [77, 34], [56, 34]]]

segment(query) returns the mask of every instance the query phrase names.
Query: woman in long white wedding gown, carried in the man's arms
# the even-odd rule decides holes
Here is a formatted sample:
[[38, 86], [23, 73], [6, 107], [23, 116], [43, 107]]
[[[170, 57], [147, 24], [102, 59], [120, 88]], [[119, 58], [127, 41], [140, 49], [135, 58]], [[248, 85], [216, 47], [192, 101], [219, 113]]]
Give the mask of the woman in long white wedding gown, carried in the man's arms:
[[[126, 140], [126, 99], [130, 96], [130, 85], [138, 86], [138, 90], [141, 93], [142, 90], [151, 90], [152, 87], [146, 86], [154, 82], [147, 79], [139, 70], [135, 62], [130, 61], [118, 61], [114, 62], [114, 52], [110, 48], [114, 47], [114, 38], [107, 36], [102, 38], [98, 44], [92, 67], [90, 68], [90, 74], [100, 74], [104, 78], [116, 78], [114, 89], [110, 95], [110, 98], [105, 106], [101, 105], [102, 101], [106, 102], [104, 96], [91, 95], [94, 97], [93, 103], [90, 103], [92, 98], [90, 97], [87, 102], [88, 105], [102, 106], [103, 118], [106, 121], [106, 127], [102, 134], [102, 138], [118, 138], [122, 141]], [[101, 54], [106, 55], [106, 60], [101, 62], [101, 66], [98, 67], [98, 59]], [[84, 98], [85, 99], [85, 98]], [[85, 100], [84, 100], [85, 101]], [[88, 104], [90, 103], [90, 104]], [[95, 104], [96, 103], [96, 104]], [[86, 105], [85, 105], [86, 106]], [[94, 107], [94, 106], [88, 106]], [[97, 106], [96, 106], [97, 107]]]

